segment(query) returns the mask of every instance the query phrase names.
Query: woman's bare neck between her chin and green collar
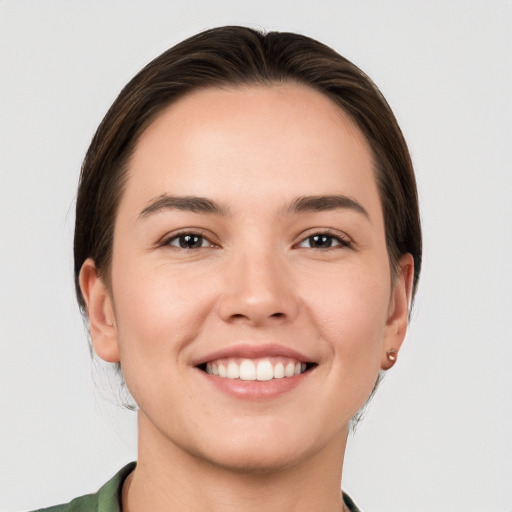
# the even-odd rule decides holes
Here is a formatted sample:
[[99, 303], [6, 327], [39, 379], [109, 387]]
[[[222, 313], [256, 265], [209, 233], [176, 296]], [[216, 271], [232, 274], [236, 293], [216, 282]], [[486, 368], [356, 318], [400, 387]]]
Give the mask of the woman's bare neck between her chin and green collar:
[[[153, 430], [153, 431], [152, 431]], [[182, 449], [139, 416], [139, 457], [123, 512], [340, 512], [346, 436], [281, 468], [221, 467]]]

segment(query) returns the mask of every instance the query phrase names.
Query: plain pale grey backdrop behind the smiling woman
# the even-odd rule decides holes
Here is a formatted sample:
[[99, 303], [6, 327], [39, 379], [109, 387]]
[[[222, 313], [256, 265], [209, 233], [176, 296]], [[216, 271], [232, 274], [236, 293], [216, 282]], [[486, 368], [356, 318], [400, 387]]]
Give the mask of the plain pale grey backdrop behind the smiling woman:
[[136, 457], [135, 413], [93, 371], [73, 296], [79, 168], [144, 64], [224, 24], [303, 32], [353, 60], [415, 163], [423, 276], [343, 487], [365, 512], [512, 511], [507, 0], [0, 0], [0, 510], [95, 491]]

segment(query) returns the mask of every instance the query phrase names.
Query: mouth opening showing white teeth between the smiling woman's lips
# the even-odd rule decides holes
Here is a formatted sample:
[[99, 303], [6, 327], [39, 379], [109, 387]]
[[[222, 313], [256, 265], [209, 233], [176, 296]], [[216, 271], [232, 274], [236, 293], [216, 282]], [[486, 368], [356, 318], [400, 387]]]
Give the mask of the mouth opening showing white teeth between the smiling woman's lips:
[[223, 379], [245, 381], [269, 381], [301, 375], [313, 369], [316, 363], [299, 361], [289, 357], [224, 358], [208, 361], [198, 368]]

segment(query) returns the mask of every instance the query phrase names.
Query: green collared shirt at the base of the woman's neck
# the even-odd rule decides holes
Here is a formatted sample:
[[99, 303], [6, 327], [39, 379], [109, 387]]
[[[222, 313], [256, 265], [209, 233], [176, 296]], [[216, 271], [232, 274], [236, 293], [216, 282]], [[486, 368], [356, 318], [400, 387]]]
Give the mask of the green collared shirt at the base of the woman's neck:
[[[75, 498], [64, 505], [39, 509], [34, 512], [121, 512], [121, 492], [126, 477], [135, 468], [135, 462], [130, 462], [97, 493], [86, 494]], [[354, 502], [343, 493], [343, 499], [351, 512], [359, 512]]]

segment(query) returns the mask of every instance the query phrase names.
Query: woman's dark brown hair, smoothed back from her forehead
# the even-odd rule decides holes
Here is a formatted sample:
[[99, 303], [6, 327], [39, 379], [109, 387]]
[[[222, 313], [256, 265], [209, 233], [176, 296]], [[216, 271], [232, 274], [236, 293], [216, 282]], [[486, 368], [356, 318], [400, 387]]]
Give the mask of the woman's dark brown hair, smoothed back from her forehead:
[[411, 158], [398, 123], [373, 82], [354, 64], [303, 35], [220, 27], [190, 37], [145, 66], [121, 91], [87, 151], [76, 204], [75, 286], [82, 264], [95, 261], [108, 281], [114, 223], [128, 160], [164, 107], [207, 87], [296, 82], [331, 98], [357, 123], [373, 151], [392, 272], [401, 255], [421, 268], [421, 225]]

